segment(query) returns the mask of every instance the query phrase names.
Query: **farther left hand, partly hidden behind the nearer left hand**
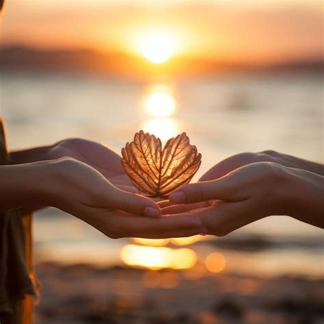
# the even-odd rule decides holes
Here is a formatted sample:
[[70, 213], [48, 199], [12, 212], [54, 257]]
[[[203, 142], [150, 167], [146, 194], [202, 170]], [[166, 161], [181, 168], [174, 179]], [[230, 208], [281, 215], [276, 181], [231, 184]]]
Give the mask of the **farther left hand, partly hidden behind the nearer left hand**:
[[124, 167], [122, 167], [121, 157], [109, 146], [87, 141], [86, 139], [64, 139], [54, 146], [51, 146], [45, 159], [59, 159], [71, 157], [98, 170], [110, 183], [125, 191], [138, 193], [133, 186]]

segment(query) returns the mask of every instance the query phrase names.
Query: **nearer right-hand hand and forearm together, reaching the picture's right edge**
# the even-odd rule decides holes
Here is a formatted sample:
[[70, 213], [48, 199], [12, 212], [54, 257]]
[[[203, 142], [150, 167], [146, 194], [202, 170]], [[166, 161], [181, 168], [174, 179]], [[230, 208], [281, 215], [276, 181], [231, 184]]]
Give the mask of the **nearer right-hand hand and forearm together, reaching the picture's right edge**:
[[190, 211], [208, 234], [223, 236], [269, 215], [291, 215], [323, 227], [323, 177], [312, 172], [258, 162], [216, 180], [189, 184], [171, 193], [163, 213]]

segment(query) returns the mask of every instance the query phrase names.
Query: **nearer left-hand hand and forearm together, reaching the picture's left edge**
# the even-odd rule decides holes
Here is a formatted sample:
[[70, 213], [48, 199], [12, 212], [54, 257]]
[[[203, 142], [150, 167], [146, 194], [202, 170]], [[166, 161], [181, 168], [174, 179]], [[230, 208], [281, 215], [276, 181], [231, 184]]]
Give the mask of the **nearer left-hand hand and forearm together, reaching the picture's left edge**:
[[154, 201], [114, 187], [100, 172], [75, 159], [2, 165], [0, 178], [0, 211], [54, 206], [111, 238], [155, 239], [204, 232], [197, 216], [159, 217]]

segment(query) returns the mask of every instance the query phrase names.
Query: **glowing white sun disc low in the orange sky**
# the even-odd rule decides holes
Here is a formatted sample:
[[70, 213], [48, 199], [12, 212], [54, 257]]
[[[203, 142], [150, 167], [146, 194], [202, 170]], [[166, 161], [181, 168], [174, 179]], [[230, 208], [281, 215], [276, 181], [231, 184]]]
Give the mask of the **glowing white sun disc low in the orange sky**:
[[155, 64], [166, 62], [174, 52], [172, 38], [159, 33], [144, 36], [140, 47], [146, 59]]

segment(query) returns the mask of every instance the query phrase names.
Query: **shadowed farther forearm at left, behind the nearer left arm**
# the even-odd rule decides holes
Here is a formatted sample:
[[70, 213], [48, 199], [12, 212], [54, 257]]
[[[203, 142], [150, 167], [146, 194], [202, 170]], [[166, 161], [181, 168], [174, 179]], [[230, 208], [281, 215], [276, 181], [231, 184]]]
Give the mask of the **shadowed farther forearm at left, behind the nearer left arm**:
[[47, 159], [47, 154], [51, 148], [53, 148], [53, 146], [40, 146], [27, 150], [12, 151], [10, 152], [10, 159], [14, 164], [44, 161]]

